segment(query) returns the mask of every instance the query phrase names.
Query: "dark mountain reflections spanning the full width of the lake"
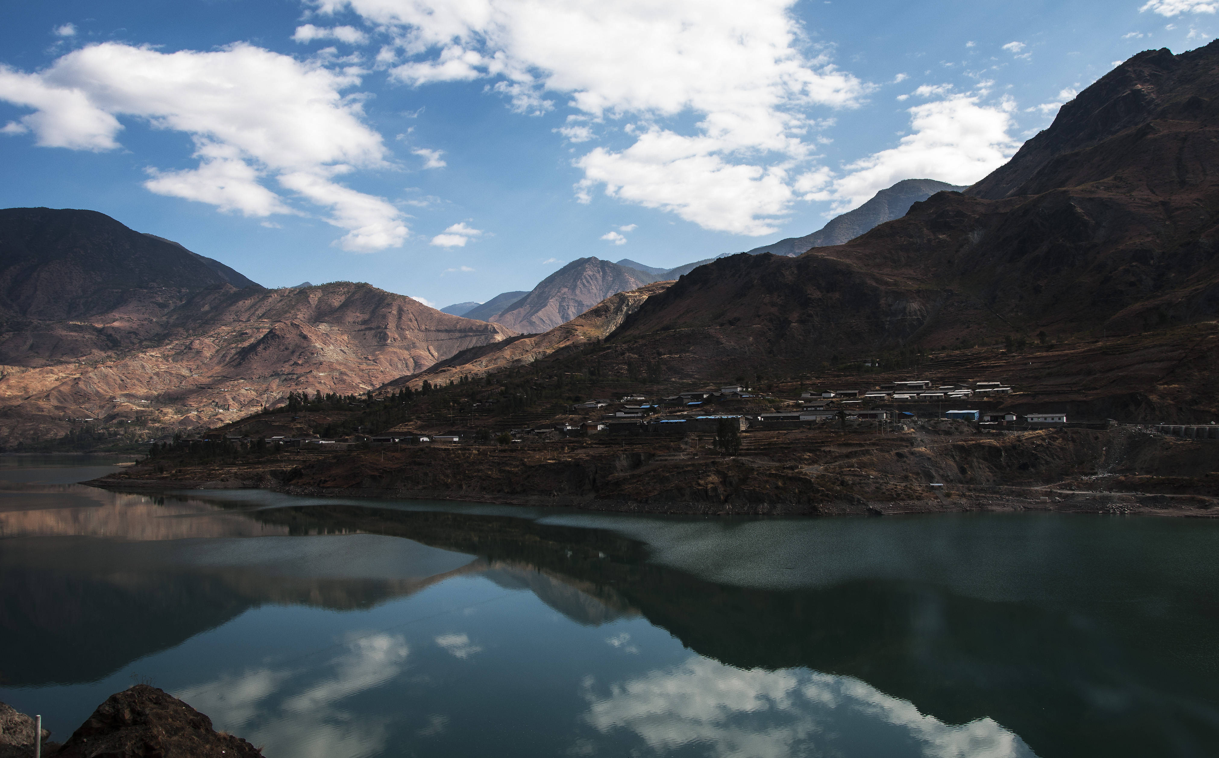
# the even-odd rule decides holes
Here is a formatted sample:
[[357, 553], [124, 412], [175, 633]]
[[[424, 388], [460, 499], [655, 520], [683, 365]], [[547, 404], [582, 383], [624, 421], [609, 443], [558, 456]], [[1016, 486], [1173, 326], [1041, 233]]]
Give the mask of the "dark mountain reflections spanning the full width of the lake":
[[[179, 542], [172, 559], [145, 554], [156, 553], [150, 545], [168, 544], [130, 544], [127, 568], [107, 573], [98, 570], [100, 558], [88, 556], [89, 545], [112, 550], [104, 541], [54, 548], [54, 539], [30, 540], [37, 558], [15, 553], [11, 547], [24, 541], [11, 540], [0, 553], [0, 650], [23, 650], [41, 636], [65, 654], [37, 671], [7, 661], [7, 684], [95, 679], [261, 603], [368, 607], [446, 576], [479, 573], [501, 586], [529, 589], [580, 624], [642, 614], [701, 656], [739, 669], [853, 676], [947, 724], [990, 717], [1043, 756], [1156, 754], [1164, 745], [1178, 746], [1176, 754], [1213, 754], [1217, 747], [1213, 692], [1198, 691], [1196, 680], [1176, 681], [1171, 671], [1150, 671], [1163, 657], [1139, 657], [1175, 641], [1143, 635], [1131, 653], [1129, 640], [1120, 641], [1128, 650], [1119, 650], [1114, 636], [1098, 629], [1129, 607], [1080, 614], [980, 600], [925, 581], [740, 587], [649, 563], [642, 544], [612, 531], [503, 515], [343, 503], [241, 515], [290, 535], [362, 533], [379, 540], [377, 550], [414, 545], [411, 550], [436, 552], [386, 563], [421, 567], [416, 576], [375, 575], [375, 565], [358, 575], [323, 576], [284, 569], [278, 558], [251, 568], [245, 558], [212, 554], [226, 545], [262, 552], [278, 541], [304, 550], [305, 541], [293, 537], [200, 540], [212, 553], [195, 558]], [[90, 619], [90, 629], [82, 619]], [[1179, 631], [1215, 637], [1213, 629]], [[1126, 636], [1141, 634], [1134, 629]]]

